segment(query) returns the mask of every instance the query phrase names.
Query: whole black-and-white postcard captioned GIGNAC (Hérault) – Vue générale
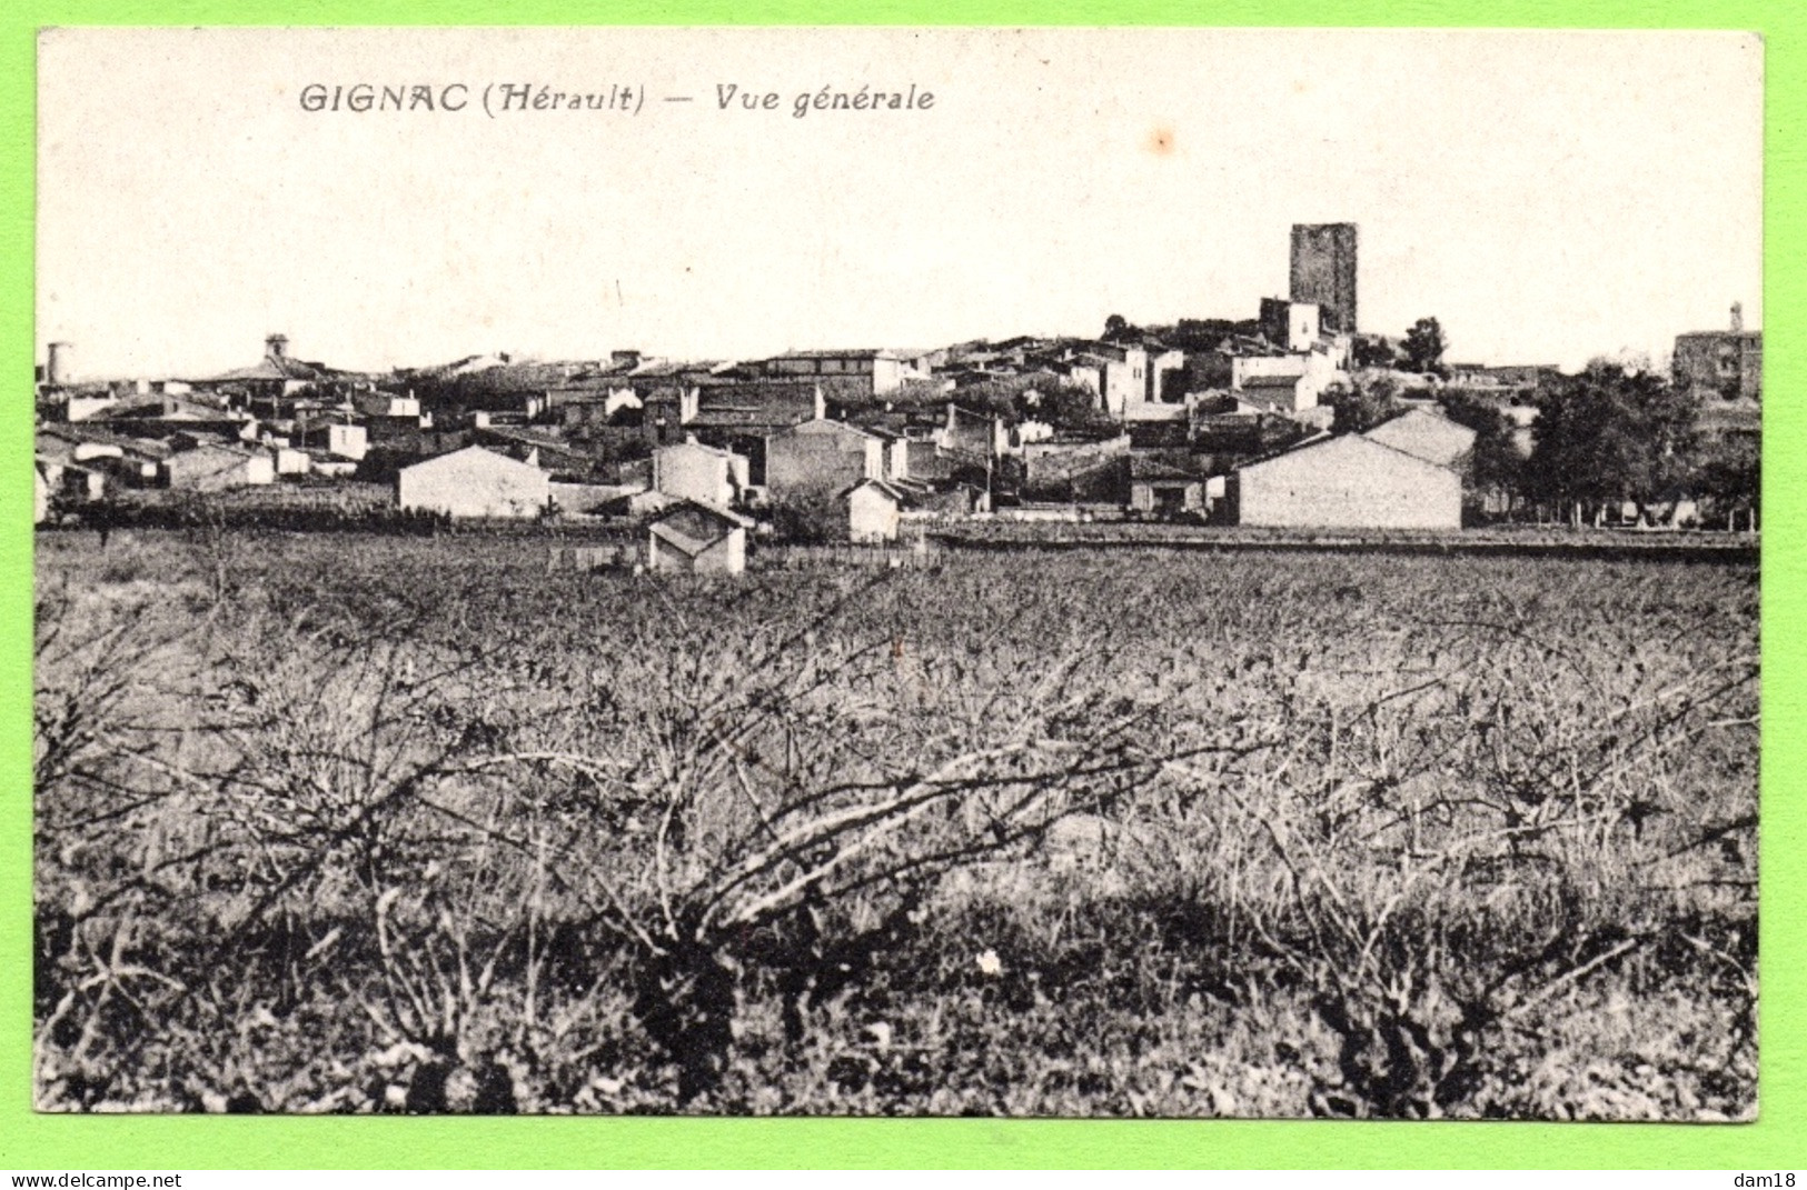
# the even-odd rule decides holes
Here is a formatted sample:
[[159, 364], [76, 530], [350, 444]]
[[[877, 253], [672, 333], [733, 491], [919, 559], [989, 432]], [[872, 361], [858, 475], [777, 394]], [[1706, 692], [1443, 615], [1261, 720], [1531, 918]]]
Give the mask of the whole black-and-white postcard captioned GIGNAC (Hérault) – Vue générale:
[[1760, 36], [36, 67], [36, 1111], [1756, 1120]]

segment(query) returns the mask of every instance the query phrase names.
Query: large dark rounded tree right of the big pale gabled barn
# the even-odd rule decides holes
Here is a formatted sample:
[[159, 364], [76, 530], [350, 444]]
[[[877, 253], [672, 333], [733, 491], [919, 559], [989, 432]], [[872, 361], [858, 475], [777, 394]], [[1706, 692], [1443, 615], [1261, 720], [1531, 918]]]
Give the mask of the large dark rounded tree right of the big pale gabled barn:
[[1534, 495], [1581, 504], [1677, 495], [1695, 459], [1695, 404], [1655, 372], [1596, 359], [1545, 392], [1525, 473]]

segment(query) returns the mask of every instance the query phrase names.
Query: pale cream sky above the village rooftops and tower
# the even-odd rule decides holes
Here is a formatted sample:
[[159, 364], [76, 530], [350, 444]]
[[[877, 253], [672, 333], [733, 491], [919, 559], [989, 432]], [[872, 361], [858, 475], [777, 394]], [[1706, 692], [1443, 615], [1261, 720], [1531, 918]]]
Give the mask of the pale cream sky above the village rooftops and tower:
[[[468, 107], [307, 112], [309, 83]], [[502, 83], [645, 103], [490, 117]], [[793, 116], [824, 85], [934, 105]], [[1762, 325], [1744, 34], [65, 29], [38, 137], [38, 358], [90, 377], [276, 330], [387, 368], [1252, 318], [1294, 222], [1359, 224], [1361, 329], [1433, 314], [1451, 359]]]

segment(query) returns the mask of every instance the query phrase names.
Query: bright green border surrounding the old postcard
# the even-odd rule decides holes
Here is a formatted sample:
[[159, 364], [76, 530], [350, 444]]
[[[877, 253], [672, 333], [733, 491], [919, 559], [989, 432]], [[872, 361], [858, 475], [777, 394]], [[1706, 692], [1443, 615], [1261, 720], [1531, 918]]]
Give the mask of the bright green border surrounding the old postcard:
[[[1496, 25], [1765, 36], [1762, 1085], [1753, 1125], [997, 1120], [76, 1118], [31, 1112], [31, 376], [34, 31], [211, 23]], [[1796, 766], [1807, 663], [1800, 312], [1807, 5], [1800, 0], [1021, 4], [1008, 0], [87, 0], [0, 14], [0, 1168], [1350, 1167], [1789, 1168], [1807, 1152], [1807, 926]], [[1408, 130], [1400, 130], [1402, 135]], [[1652, 246], [1661, 251], [1661, 246]]]

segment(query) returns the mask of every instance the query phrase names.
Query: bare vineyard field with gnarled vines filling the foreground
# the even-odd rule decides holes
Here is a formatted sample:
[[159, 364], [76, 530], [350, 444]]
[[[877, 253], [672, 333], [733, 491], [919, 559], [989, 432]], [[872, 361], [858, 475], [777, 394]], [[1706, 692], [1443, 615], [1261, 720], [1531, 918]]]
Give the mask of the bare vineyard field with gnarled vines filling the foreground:
[[1756, 572], [47, 535], [49, 1111], [1744, 1118]]

